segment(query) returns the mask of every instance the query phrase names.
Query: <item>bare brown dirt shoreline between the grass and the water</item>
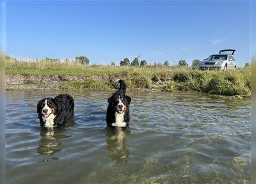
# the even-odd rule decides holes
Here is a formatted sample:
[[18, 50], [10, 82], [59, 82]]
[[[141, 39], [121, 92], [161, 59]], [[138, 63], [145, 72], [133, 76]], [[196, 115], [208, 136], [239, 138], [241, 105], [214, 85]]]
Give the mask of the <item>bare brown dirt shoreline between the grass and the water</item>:
[[[104, 89], [69, 89], [68, 87], [63, 87], [66, 82], [100, 82], [105, 81], [112, 83], [112, 78], [106, 78], [106, 76], [68, 76], [68, 75], [33, 75], [33, 74], [6, 74], [5, 75], [5, 90], [6, 91], [30, 91], [30, 90], [73, 90], [73, 91], [115, 91], [116, 86], [106, 87]], [[161, 91], [166, 93], [175, 93], [182, 90], [165, 90], [165, 87], [170, 85], [171, 80], [162, 82], [152, 82], [151, 89], [143, 87], [128, 87], [132, 91]], [[230, 99], [242, 99], [251, 98], [251, 95], [221, 95], [221, 94], [211, 94], [200, 91], [187, 91], [189, 93], [204, 93], [209, 95], [214, 95], [220, 98], [230, 98]]]

